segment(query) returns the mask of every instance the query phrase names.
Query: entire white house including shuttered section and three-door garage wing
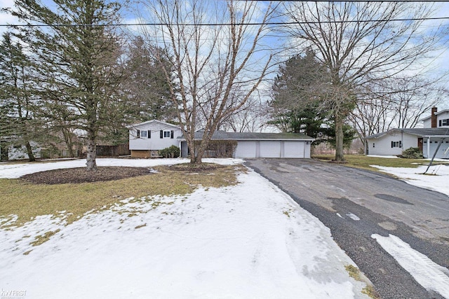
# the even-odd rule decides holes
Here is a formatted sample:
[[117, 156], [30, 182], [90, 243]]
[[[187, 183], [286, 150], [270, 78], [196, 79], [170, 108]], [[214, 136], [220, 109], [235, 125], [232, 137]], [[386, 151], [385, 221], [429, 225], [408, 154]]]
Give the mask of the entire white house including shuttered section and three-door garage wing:
[[[181, 156], [188, 157], [187, 141], [177, 125], [160, 120], [128, 126], [129, 149], [131, 157], [151, 158], [159, 155], [158, 151], [169, 146], [178, 146]], [[203, 132], [195, 132], [195, 140], [201, 140]], [[212, 141], [232, 141], [235, 144], [227, 156], [234, 158], [310, 158], [310, 146], [313, 138], [296, 133], [241, 133], [217, 131]], [[227, 149], [225, 149], [227, 151]], [[217, 156], [217, 151], [210, 150], [206, 156]]]

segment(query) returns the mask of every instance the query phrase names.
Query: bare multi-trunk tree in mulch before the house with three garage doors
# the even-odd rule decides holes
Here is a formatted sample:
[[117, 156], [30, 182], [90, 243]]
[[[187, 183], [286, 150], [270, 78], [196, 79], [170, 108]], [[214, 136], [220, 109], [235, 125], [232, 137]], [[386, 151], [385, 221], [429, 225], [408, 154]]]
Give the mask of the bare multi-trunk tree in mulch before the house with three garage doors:
[[[239, 111], [257, 90], [271, 63], [263, 48], [274, 15], [271, 4], [252, 1], [155, 0], [145, 2], [150, 22], [142, 27], [147, 41], [165, 48], [170, 69], [160, 64], [170, 83], [172, 101], [180, 107], [178, 118], [190, 150], [190, 161], [201, 158], [223, 119]], [[260, 25], [248, 25], [248, 22]], [[173, 73], [171, 73], [173, 71]], [[173, 82], [168, 80], [169, 82]], [[233, 97], [234, 92], [239, 97]], [[203, 109], [203, 107], [207, 109]], [[204, 122], [197, 120], [207, 112]], [[203, 139], [195, 147], [194, 133], [203, 127]]]

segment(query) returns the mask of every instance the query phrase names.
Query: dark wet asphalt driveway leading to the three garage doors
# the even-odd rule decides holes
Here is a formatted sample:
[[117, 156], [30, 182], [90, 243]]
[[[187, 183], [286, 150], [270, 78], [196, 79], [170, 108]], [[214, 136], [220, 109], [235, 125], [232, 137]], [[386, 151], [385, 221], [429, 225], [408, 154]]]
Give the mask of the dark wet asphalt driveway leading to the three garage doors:
[[447, 195], [377, 172], [316, 160], [257, 159], [246, 165], [330, 228], [335, 242], [381, 298], [443, 298], [420, 286], [371, 235], [395, 235], [449, 268]]

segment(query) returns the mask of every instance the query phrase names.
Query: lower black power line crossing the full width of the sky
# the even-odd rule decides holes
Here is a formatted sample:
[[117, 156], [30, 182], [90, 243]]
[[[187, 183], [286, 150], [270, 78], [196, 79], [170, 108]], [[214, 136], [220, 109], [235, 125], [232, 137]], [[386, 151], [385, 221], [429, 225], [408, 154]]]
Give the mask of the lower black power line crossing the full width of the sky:
[[427, 21], [427, 20], [449, 20], [449, 17], [438, 18], [403, 18], [403, 19], [379, 19], [379, 20], [334, 20], [334, 21], [304, 21], [304, 22], [248, 22], [248, 23], [118, 23], [118, 24], [0, 24], [0, 27], [131, 27], [131, 26], [262, 26], [262, 25], [302, 25], [302, 24], [335, 24], [335, 23], [366, 23], [366, 22], [406, 22], [406, 21]]

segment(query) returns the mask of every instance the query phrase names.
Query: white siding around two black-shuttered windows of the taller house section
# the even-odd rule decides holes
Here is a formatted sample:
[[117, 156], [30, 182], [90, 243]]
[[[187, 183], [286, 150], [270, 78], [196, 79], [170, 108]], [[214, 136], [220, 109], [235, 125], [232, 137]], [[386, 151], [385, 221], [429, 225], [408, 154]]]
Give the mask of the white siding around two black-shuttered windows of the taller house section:
[[[137, 130], [140, 131], [151, 131], [151, 138], [148, 137], [137, 137]], [[171, 138], [161, 138], [160, 132], [173, 131], [173, 139]], [[182, 136], [181, 129], [166, 123], [161, 123], [159, 121], [153, 121], [149, 123], [143, 123], [140, 125], [135, 125], [129, 130], [129, 149], [130, 150], [161, 150], [169, 146], [179, 146], [180, 141], [177, 137]]]

